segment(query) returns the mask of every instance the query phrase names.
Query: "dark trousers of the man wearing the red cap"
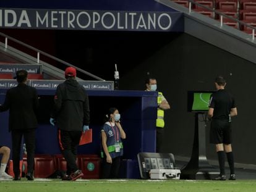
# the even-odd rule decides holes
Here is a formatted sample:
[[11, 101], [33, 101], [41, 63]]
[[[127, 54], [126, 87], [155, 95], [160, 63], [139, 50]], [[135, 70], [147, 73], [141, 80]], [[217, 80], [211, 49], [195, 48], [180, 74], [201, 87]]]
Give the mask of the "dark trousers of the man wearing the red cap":
[[79, 145], [82, 131], [59, 130], [59, 146], [67, 162], [67, 175], [75, 172], [77, 167], [77, 146]]

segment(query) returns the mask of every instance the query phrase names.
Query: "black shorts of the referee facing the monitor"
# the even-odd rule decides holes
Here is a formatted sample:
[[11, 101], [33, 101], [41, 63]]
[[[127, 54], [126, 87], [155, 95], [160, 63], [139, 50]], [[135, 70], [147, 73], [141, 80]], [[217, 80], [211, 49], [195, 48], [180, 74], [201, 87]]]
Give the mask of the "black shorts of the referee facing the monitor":
[[210, 143], [213, 144], [231, 144], [232, 143], [232, 130], [231, 123], [228, 120], [215, 120], [211, 121], [210, 128]]

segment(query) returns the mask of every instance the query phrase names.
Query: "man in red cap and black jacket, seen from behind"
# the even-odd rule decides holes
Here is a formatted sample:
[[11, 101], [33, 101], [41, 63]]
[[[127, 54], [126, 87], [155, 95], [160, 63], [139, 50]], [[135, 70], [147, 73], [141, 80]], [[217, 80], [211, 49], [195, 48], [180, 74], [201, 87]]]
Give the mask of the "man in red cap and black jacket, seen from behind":
[[56, 123], [59, 131], [59, 146], [67, 161], [67, 175], [63, 180], [77, 180], [83, 176], [76, 164], [77, 146], [82, 131], [88, 130], [90, 109], [88, 95], [75, 80], [76, 70], [67, 67], [66, 81], [58, 85], [54, 96], [54, 112], [50, 123]]

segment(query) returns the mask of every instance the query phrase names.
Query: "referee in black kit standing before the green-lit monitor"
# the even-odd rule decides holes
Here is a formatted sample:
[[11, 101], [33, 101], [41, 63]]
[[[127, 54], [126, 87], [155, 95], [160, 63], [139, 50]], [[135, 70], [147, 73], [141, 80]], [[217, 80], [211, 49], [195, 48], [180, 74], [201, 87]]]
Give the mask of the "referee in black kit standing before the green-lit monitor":
[[210, 143], [216, 145], [218, 161], [220, 165], [220, 175], [214, 180], [226, 180], [225, 175], [225, 155], [228, 158], [230, 169], [229, 180], [236, 180], [234, 173], [234, 156], [232, 152], [232, 130], [231, 117], [237, 115], [236, 104], [233, 96], [226, 91], [226, 80], [219, 76], [215, 79], [216, 92], [211, 94], [208, 118], [212, 119], [210, 129]]

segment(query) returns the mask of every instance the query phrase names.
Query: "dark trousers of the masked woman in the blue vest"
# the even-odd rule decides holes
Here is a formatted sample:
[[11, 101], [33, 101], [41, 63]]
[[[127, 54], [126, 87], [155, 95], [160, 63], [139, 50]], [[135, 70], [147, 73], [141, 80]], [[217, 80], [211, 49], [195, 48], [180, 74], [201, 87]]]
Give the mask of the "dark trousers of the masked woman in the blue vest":
[[121, 157], [113, 158], [112, 164], [106, 162], [106, 157], [104, 157], [102, 162], [101, 178], [118, 178], [120, 163]]

